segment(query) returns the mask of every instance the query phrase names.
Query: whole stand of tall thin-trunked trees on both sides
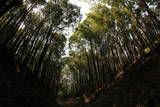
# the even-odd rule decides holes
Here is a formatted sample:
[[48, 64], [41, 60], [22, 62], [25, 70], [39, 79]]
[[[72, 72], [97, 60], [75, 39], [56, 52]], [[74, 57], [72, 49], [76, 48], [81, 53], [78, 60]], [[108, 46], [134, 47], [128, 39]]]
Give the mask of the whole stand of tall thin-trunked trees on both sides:
[[[109, 88], [157, 52], [159, 0], [91, 3], [81, 21], [80, 7], [69, 0], [0, 0], [0, 46], [13, 55], [24, 80], [32, 74], [31, 84], [38, 79], [55, 95], [83, 96]], [[69, 28], [75, 29], [68, 37]]]

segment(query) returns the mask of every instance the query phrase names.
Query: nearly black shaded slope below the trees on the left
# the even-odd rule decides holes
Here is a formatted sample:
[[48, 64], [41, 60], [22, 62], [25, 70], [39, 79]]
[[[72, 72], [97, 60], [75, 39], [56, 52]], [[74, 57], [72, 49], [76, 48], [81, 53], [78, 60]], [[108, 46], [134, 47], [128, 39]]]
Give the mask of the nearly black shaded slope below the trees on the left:
[[0, 48], [0, 107], [57, 107], [43, 86], [19, 79], [14, 61]]

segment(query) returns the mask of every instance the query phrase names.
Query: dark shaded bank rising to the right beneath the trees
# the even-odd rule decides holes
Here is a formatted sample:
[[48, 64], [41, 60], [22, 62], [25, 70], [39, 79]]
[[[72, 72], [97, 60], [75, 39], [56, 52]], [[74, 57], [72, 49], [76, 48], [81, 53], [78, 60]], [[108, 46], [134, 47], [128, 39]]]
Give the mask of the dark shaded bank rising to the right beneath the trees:
[[144, 57], [121, 80], [97, 98], [91, 107], [160, 107], [160, 56]]

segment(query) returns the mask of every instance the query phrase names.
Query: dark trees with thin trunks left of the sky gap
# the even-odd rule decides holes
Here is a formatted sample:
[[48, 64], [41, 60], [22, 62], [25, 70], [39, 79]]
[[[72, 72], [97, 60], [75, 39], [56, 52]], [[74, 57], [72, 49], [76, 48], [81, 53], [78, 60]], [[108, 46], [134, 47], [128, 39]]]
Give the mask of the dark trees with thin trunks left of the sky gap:
[[0, 43], [22, 66], [21, 75], [30, 72], [32, 84], [38, 78], [57, 94], [64, 65], [61, 59], [66, 44], [64, 30], [75, 25], [79, 17], [80, 9], [67, 0], [48, 3], [26, 0], [1, 17]]

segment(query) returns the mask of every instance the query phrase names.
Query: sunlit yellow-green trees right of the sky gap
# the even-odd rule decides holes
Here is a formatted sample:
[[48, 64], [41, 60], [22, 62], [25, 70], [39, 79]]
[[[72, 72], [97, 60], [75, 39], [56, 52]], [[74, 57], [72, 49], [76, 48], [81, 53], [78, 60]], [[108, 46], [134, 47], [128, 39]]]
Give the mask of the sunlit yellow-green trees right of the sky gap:
[[[92, 92], [104, 84], [110, 85], [132, 62], [155, 50], [159, 25], [153, 23], [159, 21], [145, 4], [105, 0], [94, 6], [87, 19], [78, 25], [69, 38], [72, 62], [68, 66], [73, 72], [73, 93]], [[143, 16], [143, 12], [137, 14], [136, 6], [155, 19]]]

